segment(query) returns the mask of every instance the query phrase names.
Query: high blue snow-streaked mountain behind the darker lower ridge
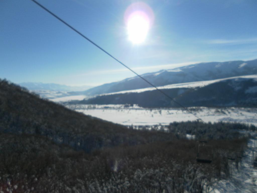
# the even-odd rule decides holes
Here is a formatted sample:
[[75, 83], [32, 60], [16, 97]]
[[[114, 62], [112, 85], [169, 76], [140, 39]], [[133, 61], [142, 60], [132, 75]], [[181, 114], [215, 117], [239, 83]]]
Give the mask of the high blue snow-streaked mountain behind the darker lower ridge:
[[[198, 63], [170, 70], [146, 73], [143, 74], [142, 77], [155, 86], [164, 86], [176, 83], [206, 81], [251, 74], [257, 74], [257, 59], [249, 61], [239, 60], [230, 62]], [[147, 87], [151, 86], [141, 78], [135, 76], [132, 78], [126, 78], [123, 81], [103, 84], [88, 89], [82, 94], [96, 95]]]

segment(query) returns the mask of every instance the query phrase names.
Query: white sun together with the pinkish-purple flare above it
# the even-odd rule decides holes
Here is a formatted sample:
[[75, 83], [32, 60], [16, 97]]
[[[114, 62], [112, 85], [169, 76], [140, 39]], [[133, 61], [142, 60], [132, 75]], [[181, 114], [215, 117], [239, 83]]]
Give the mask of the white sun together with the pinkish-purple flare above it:
[[128, 40], [133, 44], [145, 41], [154, 20], [152, 9], [142, 2], [133, 3], [127, 8], [124, 19]]

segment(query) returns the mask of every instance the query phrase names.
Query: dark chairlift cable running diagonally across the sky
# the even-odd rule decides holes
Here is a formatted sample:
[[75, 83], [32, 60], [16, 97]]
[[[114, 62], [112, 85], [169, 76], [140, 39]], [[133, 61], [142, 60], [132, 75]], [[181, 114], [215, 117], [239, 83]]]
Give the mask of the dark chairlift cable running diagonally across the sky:
[[[63, 21], [60, 17], [58, 17], [57, 15], [55, 15], [54, 13], [52, 13], [51, 11], [49, 11], [47, 8], [45, 8], [43, 5], [41, 5], [40, 3], [38, 3], [35, 0], [31, 0], [33, 1], [35, 4], [37, 4], [38, 6], [40, 6], [41, 8], [43, 8], [45, 11], [47, 11], [48, 13], [50, 13], [52, 16], [54, 16], [56, 19], [58, 19], [59, 21], [61, 21], [62, 23], [64, 23], [65, 25], [67, 25], [69, 28], [71, 28], [73, 31], [77, 32], [80, 36], [82, 36], [83, 38], [85, 38], [87, 41], [89, 41], [90, 43], [92, 43], [93, 45], [95, 45], [97, 48], [99, 48], [100, 50], [102, 50], [103, 52], [105, 52], [105, 54], [107, 54], [108, 56], [112, 57], [114, 60], [116, 60], [118, 63], [120, 63], [121, 65], [123, 65], [124, 67], [126, 67], [127, 69], [129, 69], [131, 72], [133, 72], [134, 74], [136, 74], [138, 77], [142, 78], [145, 82], [147, 82], [148, 84], [150, 84], [152, 87], [154, 87], [156, 90], [158, 90], [159, 92], [161, 92], [162, 94], [164, 94], [165, 96], [167, 96], [169, 99], [171, 99], [172, 101], [174, 101], [176, 104], [178, 104], [180, 107], [186, 109], [186, 111], [188, 111], [189, 113], [191, 113], [192, 115], [194, 115], [197, 119], [203, 121], [201, 118], [197, 117], [194, 113], [192, 113], [190, 110], [188, 110], [186, 107], [184, 107], [182, 104], [180, 104], [179, 102], [175, 101], [172, 97], [170, 97], [168, 94], [166, 94], [165, 92], [163, 92], [162, 90], [158, 89], [156, 86], [154, 86], [152, 83], [150, 83], [148, 80], [146, 80], [145, 78], [143, 78], [142, 76], [140, 76], [139, 74], [137, 74], [135, 71], [133, 71], [131, 68], [129, 68], [128, 66], [126, 66], [125, 64], [123, 64], [120, 60], [116, 59], [114, 56], [112, 56], [111, 54], [109, 54], [109, 52], [105, 51], [103, 48], [101, 48], [100, 46], [98, 46], [95, 42], [93, 42], [92, 40], [90, 40], [89, 38], [87, 38], [86, 36], [84, 36], [82, 33], [80, 33], [78, 30], [76, 30], [74, 27], [72, 27], [71, 25], [69, 25], [68, 23], [66, 23], [65, 21]], [[203, 121], [204, 122], [204, 121]]]

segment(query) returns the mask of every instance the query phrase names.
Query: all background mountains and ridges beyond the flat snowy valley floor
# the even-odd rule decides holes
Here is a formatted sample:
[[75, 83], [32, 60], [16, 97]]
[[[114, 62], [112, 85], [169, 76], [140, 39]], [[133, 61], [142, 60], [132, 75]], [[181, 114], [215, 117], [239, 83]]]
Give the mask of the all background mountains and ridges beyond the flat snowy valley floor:
[[[172, 98], [188, 107], [251, 107], [256, 105], [256, 87], [253, 86], [255, 88], [253, 93], [249, 93], [247, 89], [255, 85], [256, 81], [252, 77], [245, 76], [253, 74], [257, 74], [257, 59], [198, 63], [146, 73], [141, 76], [160, 89], [164, 89]], [[224, 80], [224, 78], [232, 79]], [[238, 80], [242, 81], [238, 82]], [[237, 90], [235, 85], [238, 84], [241, 85], [242, 89]], [[177, 107], [176, 104], [171, 103], [168, 98], [154, 90], [153, 87], [138, 76], [126, 78], [119, 82], [103, 84], [86, 91], [83, 90], [87, 89], [88, 86], [72, 87], [44, 83], [21, 83], [20, 85], [39, 94], [42, 98], [59, 102], [74, 100], [70, 103], [138, 104], [149, 108]], [[196, 90], [192, 90], [192, 87]], [[211, 96], [210, 93], [212, 93]], [[238, 98], [239, 96], [240, 98]], [[81, 101], [82, 98], [85, 99]]]

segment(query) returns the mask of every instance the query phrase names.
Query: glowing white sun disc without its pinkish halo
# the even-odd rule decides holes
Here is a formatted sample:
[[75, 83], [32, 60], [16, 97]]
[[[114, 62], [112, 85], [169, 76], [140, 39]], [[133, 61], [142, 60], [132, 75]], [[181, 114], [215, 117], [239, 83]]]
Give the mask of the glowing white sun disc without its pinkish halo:
[[127, 20], [128, 39], [134, 43], [142, 43], [147, 36], [150, 28], [148, 16], [142, 11], [131, 13]]

